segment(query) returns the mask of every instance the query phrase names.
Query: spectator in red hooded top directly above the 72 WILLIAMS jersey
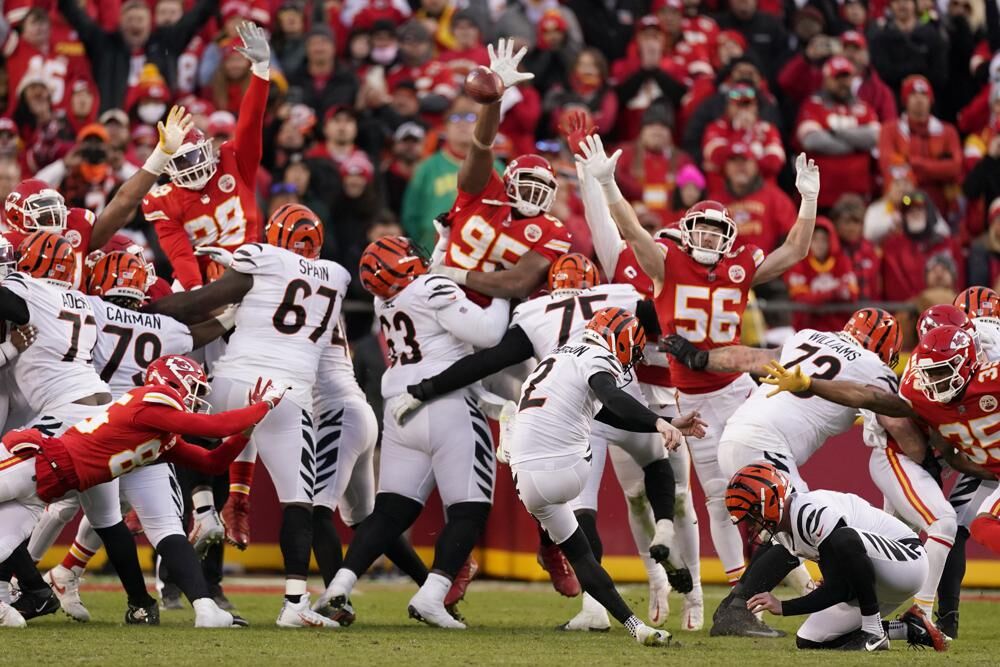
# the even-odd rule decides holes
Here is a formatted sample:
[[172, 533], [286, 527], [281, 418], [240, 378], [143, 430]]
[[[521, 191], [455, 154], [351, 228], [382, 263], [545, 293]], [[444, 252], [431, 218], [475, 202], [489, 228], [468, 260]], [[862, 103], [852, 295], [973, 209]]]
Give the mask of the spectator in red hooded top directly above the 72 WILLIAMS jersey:
[[[792, 302], [806, 306], [852, 303], [858, 298], [858, 284], [851, 258], [841, 247], [833, 223], [828, 218], [816, 218], [809, 255], [785, 274], [788, 296]], [[838, 331], [844, 323], [844, 312], [796, 312], [792, 326], [796, 329]]]

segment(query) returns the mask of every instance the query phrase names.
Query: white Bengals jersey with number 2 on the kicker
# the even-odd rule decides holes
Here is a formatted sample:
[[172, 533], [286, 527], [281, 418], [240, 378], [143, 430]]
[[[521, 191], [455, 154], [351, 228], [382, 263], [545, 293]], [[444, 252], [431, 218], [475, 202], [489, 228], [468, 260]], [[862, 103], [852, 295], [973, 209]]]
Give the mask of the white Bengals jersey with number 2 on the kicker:
[[622, 383], [621, 363], [606, 348], [577, 337], [538, 364], [521, 387], [510, 446], [511, 465], [590, 453], [590, 427], [601, 402], [590, 378], [610, 373]]

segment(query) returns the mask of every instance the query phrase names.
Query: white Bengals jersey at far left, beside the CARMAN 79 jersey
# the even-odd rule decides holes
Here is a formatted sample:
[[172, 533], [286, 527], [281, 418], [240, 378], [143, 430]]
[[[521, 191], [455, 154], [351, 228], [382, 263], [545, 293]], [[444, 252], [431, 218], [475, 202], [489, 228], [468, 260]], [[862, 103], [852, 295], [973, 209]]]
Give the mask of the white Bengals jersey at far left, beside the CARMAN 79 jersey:
[[14, 362], [14, 381], [38, 414], [108, 391], [94, 368], [97, 320], [87, 298], [24, 273], [13, 273], [3, 286], [28, 306], [29, 324], [38, 329], [35, 343]]

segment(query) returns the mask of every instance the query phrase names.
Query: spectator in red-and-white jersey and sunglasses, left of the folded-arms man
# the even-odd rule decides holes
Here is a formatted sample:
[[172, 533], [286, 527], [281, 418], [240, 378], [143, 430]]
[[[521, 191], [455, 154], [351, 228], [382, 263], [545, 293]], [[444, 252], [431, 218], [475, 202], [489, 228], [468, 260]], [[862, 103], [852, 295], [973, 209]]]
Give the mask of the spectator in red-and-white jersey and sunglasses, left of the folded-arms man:
[[729, 89], [726, 114], [705, 129], [701, 154], [709, 190], [717, 190], [722, 179], [727, 147], [746, 144], [757, 160], [761, 176], [774, 182], [785, 165], [785, 148], [778, 129], [760, 119], [757, 91], [752, 86], [737, 84]]

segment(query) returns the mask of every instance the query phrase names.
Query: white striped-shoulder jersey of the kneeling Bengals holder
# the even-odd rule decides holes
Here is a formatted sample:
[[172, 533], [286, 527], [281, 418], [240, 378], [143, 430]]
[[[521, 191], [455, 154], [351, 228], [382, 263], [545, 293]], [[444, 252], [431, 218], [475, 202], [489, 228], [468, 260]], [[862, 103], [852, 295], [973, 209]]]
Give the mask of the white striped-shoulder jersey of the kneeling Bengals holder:
[[920, 540], [916, 533], [896, 517], [872, 507], [864, 498], [853, 493], [796, 493], [788, 500], [785, 511], [789, 512], [791, 532], [775, 533], [774, 539], [801, 558], [819, 560], [819, 545], [841, 521], [861, 535], [869, 550], [874, 548], [890, 558], [900, 551], [900, 557], [895, 560], [916, 560], [919, 557], [919, 554], [907, 551], [905, 546], [886, 543], [886, 540], [897, 543], [916, 540], [914, 544], [919, 549]]

